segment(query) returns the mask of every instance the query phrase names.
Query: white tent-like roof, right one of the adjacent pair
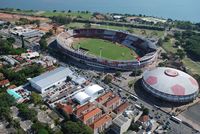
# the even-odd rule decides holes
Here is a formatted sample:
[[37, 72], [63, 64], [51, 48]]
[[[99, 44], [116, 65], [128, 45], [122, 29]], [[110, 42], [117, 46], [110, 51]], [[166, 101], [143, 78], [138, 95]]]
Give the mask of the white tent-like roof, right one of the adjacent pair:
[[97, 84], [94, 84], [92, 86], [88, 86], [85, 88], [85, 93], [88, 94], [90, 97], [93, 97], [96, 93], [102, 91], [103, 88], [100, 87]]

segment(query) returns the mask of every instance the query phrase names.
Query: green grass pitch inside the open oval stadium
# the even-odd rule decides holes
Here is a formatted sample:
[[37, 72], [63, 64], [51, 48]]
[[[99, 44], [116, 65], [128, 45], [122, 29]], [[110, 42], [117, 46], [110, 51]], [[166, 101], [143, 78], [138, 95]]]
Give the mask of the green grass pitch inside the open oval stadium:
[[102, 39], [82, 38], [73, 47], [82, 47], [87, 49], [89, 54], [96, 56], [100, 56], [101, 50], [101, 57], [112, 60], [133, 60], [137, 57], [133, 50]]

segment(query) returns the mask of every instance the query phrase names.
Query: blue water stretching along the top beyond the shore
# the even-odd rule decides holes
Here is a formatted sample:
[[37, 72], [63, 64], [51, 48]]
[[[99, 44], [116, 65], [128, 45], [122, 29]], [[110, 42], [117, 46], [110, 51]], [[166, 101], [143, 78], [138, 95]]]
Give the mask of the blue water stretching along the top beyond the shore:
[[200, 0], [0, 0], [0, 8], [88, 10], [200, 22]]

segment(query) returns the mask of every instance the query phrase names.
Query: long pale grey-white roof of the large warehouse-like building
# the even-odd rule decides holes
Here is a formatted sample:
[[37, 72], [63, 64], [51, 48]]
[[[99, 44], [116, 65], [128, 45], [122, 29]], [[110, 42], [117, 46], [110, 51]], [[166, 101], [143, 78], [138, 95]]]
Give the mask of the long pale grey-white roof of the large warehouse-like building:
[[43, 89], [72, 74], [73, 72], [69, 68], [59, 67], [53, 71], [46, 72], [35, 78], [32, 78], [29, 81]]

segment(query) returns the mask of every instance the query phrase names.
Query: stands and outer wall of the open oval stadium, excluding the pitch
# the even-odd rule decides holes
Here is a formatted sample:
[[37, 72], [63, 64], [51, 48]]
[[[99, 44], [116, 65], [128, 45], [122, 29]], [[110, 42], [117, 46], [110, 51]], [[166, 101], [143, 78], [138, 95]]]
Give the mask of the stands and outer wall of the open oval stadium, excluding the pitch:
[[[111, 60], [103, 57], [89, 55], [83, 51], [77, 51], [72, 48], [75, 38], [98, 38], [117, 42], [133, 51], [140, 51], [140, 62], [138, 60]], [[95, 44], [94, 44], [95, 45]], [[154, 62], [157, 57], [157, 47], [154, 43], [147, 39], [129, 34], [124, 31], [115, 31], [107, 29], [75, 29], [61, 33], [57, 36], [57, 46], [59, 50], [66, 56], [85, 63], [89, 66], [116, 69], [116, 70], [132, 70], [134, 68], [144, 67]]]

